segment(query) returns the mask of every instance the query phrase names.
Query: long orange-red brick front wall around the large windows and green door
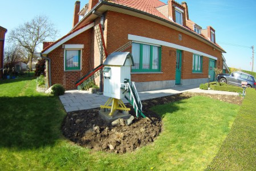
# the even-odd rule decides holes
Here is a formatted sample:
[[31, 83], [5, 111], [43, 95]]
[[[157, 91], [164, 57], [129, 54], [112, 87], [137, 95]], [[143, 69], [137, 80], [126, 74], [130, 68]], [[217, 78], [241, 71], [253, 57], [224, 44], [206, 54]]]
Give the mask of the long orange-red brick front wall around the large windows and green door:
[[[213, 47], [185, 35], [182, 32], [173, 30], [172, 28], [159, 25], [157, 23], [147, 21], [145, 19], [133, 17], [131, 15], [116, 13], [108, 11], [106, 14], [105, 26], [107, 26], [106, 46], [109, 53], [115, 51], [118, 47], [127, 43], [128, 34], [145, 36], [157, 40], [163, 40], [192, 48], [193, 50], [201, 51], [206, 54], [216, 56], [218, 60], [222, 59], [221, 52], [214, 50]], [[182, 40], [178, 40], [178, 35], [182, 35]], [[193, 53], [182, 52], [182, 76], [181, 79], [196, 79], [208, 78], [209, 59], [203, 58], [203, 72], [202, 74], [192, 73]], [[218, 62], [217, 62], [218, 64]], [[176, 49], [162, 46], [161, 56], [161, 71], [162, 74], [132, 74], [132, 81], [134, 82], [152, 82], [161, 80], [175, 79], [175, 65], [176, 65]], [[222, 67], [222, 64], [220, 64]]]

